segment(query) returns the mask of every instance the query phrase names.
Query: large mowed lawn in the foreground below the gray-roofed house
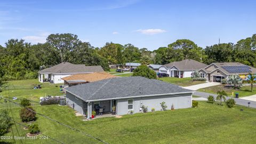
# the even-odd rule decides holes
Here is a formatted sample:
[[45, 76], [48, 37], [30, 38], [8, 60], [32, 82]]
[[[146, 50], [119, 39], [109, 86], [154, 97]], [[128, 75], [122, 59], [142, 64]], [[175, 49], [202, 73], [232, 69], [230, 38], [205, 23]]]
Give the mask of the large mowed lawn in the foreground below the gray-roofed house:
[[[35, 106], [38, 113], [75, 127], [108, 143], [255, 143], [256, 110], [236, 106], [227, 108], [199, 101], [197, 108], [156, 111], [82, 121], [67, 106]], [[241, 111], [240, 109], [244, 109]], [[20, 122], [20, 108], [13, 108]], [[42, 133], [63, 143], [100, 143], [82, 133], [69, 130], [42, 116], [34, 123]], [[14, 125], [14, 135], [18, 135]], [[25, 136], [28, 130], [18, 126]], [[5, 135], [12, 135], [11, 132]], [[39, 136], [38, 136], [39, 138]], [[3, 140], [2, 140], [3, 141]], [[5, 140], [13, 142], [13, 140]], [[20, 141], [16, 141], [20, 143]], [[23, 143], [57, 143], [47, 140], [23, 140]]]

